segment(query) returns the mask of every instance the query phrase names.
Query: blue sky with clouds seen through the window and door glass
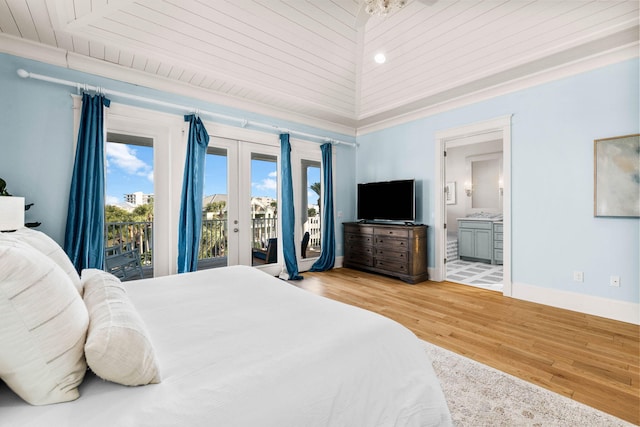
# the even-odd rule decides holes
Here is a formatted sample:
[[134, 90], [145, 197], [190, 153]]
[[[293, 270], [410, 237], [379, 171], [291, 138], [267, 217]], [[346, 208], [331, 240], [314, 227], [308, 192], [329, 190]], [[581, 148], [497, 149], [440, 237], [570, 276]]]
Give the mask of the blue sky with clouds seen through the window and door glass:
[[[153, 148], [138, 145], [106, 143], [107, 196], [106, 204], [124, 201], [124, 195], [141, 191], [153, 194]], [[320, 182], [320, 168], [309, 168], [309, 184]], [[251, 194], [276, 198], [277, 171], [274, 162], [251, 162]], [[205, 159], [204, 195], [227, 194], [226, 157], [208, 154]], [[318, 196], [308, 189], [310, 203]]]

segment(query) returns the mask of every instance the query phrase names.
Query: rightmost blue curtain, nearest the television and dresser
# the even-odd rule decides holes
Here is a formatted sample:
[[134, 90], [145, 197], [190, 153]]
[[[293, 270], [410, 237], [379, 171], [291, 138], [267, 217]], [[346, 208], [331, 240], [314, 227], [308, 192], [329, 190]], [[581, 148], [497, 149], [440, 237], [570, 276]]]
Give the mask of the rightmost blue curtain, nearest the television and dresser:
[[333, 220], [333, 171], [331, 144], [322, 144], [322, 252], [310, 271], [325, 271], [333, 268], [336, 261], [336, 233]]

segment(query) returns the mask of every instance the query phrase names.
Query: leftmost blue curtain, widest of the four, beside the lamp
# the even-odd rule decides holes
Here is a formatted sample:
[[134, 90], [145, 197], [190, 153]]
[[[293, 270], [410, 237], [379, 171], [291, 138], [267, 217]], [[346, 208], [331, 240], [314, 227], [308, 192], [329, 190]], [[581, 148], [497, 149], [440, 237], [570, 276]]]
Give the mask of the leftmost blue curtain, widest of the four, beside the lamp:
[[104, 266], [103, 95], [82, 95], [76, 158], [71, 175], [64, 250], [78, 272]]

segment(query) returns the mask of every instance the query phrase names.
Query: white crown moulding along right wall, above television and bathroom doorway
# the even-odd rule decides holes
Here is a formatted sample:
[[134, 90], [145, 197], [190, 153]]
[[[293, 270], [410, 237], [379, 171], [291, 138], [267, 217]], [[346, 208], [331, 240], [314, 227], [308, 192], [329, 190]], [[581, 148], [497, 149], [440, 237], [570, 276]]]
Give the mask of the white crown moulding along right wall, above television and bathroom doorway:
[[533, 86], [559, 80], [565, 77], [574, 76], [596, 68], [605, 67], [607, 65], [626, 61], [632, 58], [638, 58], [638, 43], [623, 46], [619, 49], [604, 52], [588, 58], [583, 58], [568, 64], [563, 64], [555, 68], [541, 71], [532, 75], [528, 75], [519, 79], [510, 80], [508, 82], [479, 90], [473, 93], [462, 95], [458, 98], [449, 99], [437, 104], [412, 111], [410, 113], [401, 114], [389, 119], [378, 120], [371, 124], [362, 124], [365, 120], [358, 121], [361, 125], [357, 127], [357, 136], [366, 135], [379, 130], [387, 129], [393, 126], [412, 122], [425, 117], [433, 116], [438, 113], [460, 108], [465, 105], [475, 104], [487, 99], [495, 98], [501, 95], [517, 92]]

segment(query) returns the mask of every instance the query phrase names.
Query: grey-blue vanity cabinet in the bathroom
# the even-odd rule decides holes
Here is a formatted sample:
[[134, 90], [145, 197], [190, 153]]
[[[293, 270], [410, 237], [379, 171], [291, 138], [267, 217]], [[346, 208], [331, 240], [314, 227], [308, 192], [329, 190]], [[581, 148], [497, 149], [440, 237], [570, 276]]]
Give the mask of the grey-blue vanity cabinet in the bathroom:
[[493, 252], [493, 221], [458, 220], [460, 259], [493, 263]]

